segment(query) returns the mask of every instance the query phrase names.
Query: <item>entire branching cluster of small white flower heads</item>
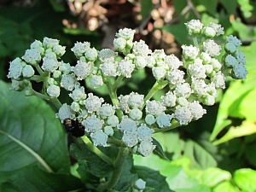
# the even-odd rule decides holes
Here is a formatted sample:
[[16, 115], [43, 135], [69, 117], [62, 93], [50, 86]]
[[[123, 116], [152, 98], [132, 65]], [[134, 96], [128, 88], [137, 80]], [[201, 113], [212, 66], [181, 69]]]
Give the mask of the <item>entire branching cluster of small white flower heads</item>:
[[[200, 20], [190, 20], [185, 25], [193, 38], [207, 40], [201, 46], [183, 45], [183, 61], [175, 55], [166, 55], [163, 49], [148, 49], [143, 40], [133, 42], [135, 31], [125, 28], [113, 40], [114, 48], [125, 55], [121, 61], [112, 49], [97, 51], [84, 42], [74, 44], [72, 51], [78, 61], [72, 67], [60, 60], [65, 47], [56, 39], [44, 38], [43, 43], [34, 41], [21, 59], [10, 62], [8, 78], [12, 79], [13, 90], [31, 86], [27, 83], [30, 80], [42, 81], [49, 98], [60, 96], [61, 88], [67, 90], [73, 102], [59, 109], [56, 116], [61, 121], [78, 119], [95, 146], [108, 146], [108, 138], [119, 131], [127, 147], [148, 156], [155, 148], [152, 143], [155, 129], [172, 126], [172, 119], [179, 125], [187, 125], [207, 113], [201, 103], [214, 104], [217, 89], [225, 88], [224, 70], [231, 69], [235, 79], [246, 78], [245, 56], [237, 49], [241, 42], [236, 37], [227, 38], [223, 65], [216, 58], [221, 47], [212, 40], [224, 34], [223, 27], [215, 23], [204, 26]], [[169, 86], [161, 101], [131, 92], [115, 98], [111, 105], [92, 93], [85, 94], [79, 82], [89, 79], [89, 84], [98, 88], [108, 77], [131, 78], [133, 71], [144, 67], [152, 69], [157, 83]], [[35, 68], [39, 75], [35, 74]]]

